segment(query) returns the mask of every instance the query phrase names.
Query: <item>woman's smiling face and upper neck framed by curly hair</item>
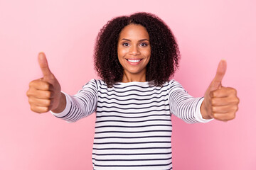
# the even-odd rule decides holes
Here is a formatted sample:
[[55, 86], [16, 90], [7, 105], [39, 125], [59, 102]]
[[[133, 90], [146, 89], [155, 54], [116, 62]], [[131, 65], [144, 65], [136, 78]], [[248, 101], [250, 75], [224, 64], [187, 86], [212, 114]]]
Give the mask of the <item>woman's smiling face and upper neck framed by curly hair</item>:
[[146, 77], [146, 64], [149, 63], [151, 55], [146, 28], [137, 24], [124, 27], [119, 34], [117, 55], [124, 74]]

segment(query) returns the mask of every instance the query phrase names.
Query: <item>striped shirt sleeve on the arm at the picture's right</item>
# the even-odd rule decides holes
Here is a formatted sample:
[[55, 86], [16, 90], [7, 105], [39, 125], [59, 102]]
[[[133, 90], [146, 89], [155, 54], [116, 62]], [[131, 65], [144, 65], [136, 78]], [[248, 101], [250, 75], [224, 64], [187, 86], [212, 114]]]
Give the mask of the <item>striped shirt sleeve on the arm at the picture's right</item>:
[[213, 119], [203, 119], [200, 111], [203, 97], [193, 98], [177, 81], [169, 81], [169, 103], [171, 113], [186, 123], [208, 123]]

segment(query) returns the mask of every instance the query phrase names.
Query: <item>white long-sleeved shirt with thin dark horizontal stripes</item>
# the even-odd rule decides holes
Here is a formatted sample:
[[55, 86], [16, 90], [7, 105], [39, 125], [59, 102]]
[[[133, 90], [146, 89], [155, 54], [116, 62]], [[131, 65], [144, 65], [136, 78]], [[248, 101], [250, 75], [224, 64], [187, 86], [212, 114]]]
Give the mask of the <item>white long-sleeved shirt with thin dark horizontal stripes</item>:
[[203, 98], [193, 98], [174, 80], [161, 87], [132, 81], [108, 88], [92, 79], [65, 97], [65, 110], [56, 117], [75, 122], [96, 113], [95, 170], [172, 169], [171, 115], [186, 123], [210, 121], [200, 113]]

